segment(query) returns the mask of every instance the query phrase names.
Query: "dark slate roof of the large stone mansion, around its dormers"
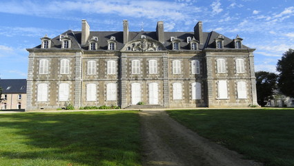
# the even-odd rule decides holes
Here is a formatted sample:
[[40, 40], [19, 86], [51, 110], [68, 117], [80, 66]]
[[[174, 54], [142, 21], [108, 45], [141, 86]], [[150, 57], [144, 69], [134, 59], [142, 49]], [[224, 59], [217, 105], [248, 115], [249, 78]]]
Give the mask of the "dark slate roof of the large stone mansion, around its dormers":
[[[68, 30], [61, 35], [68, 35], [71, 39], [71, 48], [83, 48], [84, 50], [88, 50], [88, 42], [85, 45], [81, 46], [81, 31], [72, 31]], [[156, 32], [129, 32], [129, 42], [141, 39], [141, 35], [145, 35], [146, 39], [157, 39]], [[219, 33], [214, 31], [210, 33], [203, 33], [204, 44], [199, 44], [199, 49], [203, 50], [205, 48], [215, 48], [215, 39]], [[108, 49], [108, 40], [110, 37], [114, 36], [117, 41], [117, 50], [121, 50], [124, 47], [124, 33], [122, 31], [90, 31], [90, 35], [88, 40], [92, 39], [92, 37], [98, 37], [98, 50], [107, 50]], [[223, 35], [224, 36], [224, 35]], [[172, 50], [170, 37], [177, 37], [180, 41], [181, 50], [190, 50], [189, 44], [187, 43], [187, 37], [194, 37], [194, 32], [164, 32], [164, 46], [168, 50]], [[36, 46], [35, 48], [41, 48], [41, 44]], [[59, 36], [51, 39], [51, 48], [61, 48], [61, 41], [59, 41]], [[229, 39], [224, 36], [224, 48], [235, 48], [233, 44], [233, 39]], [[242, 48], [248, 48], [247, 46], [242, 45]]]

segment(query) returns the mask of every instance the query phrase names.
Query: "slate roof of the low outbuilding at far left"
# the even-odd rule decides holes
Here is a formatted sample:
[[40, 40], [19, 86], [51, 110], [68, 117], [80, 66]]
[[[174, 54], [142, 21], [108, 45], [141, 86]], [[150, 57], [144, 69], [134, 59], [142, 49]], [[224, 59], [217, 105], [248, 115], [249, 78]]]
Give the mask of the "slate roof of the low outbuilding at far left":
[[26, 79], [0, 79], [0, 87], [3, 94], [26, 93]]

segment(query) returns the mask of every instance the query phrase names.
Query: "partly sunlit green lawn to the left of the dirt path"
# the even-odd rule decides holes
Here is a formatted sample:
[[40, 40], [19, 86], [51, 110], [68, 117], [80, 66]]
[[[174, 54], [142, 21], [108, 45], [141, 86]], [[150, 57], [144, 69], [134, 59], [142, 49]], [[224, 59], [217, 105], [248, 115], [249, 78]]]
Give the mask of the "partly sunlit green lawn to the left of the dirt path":
[[0, 114], [0, 165], [141, 165], [137, 111]]

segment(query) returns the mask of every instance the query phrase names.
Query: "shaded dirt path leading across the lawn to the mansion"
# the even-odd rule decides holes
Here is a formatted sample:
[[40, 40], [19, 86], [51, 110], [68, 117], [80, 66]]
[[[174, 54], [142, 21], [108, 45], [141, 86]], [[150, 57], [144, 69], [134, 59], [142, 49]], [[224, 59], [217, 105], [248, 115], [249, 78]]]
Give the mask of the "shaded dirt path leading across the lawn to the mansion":
[[186, 129], [165, 111], [141, 111], [143, 165], [255, 166], [262, 165]]

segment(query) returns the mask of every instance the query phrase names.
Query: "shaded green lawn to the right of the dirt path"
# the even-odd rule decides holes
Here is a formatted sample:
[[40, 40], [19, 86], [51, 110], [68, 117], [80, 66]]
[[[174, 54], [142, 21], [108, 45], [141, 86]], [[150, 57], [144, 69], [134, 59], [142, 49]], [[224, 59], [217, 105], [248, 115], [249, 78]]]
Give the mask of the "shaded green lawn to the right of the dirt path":
[[270, 166], [294, 165], [294, 109], [199, 109], [168, 114], [247, 159]]

